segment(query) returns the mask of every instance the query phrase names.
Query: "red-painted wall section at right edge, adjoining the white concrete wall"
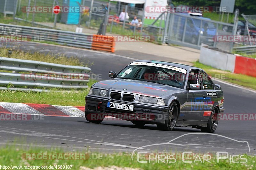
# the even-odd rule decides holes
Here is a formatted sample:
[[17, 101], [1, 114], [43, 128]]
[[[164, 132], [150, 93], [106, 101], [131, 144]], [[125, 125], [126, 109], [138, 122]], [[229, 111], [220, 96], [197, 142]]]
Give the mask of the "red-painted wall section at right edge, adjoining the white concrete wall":
[[256, 77], [256, 59], [236, 56], [234, 73]]

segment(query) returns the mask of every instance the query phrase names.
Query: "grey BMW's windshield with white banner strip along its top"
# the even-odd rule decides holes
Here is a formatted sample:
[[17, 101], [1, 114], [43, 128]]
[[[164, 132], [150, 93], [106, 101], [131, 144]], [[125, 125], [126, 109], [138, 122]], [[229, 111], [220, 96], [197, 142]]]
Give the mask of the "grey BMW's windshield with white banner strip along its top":
[[[170, 67], [171, 69], [157, 67], [157, 64], [154, 63], [148, 64], [153, 64], [154, 66], [142, 65], [138, 62], [131, 63], [129, 66], [125, 67], [119, 74], [117, 74], [116, 78], [155, 82], [181, 89], [184, 87], [186, 77], [186, 74], [184, 73], [186, 73], [186, 70], [178, 67], [171, 68], [172, 66], [166, 65], [161, 66]], [[182, 70], [183, 73], [176, 71], [177, 69]]]

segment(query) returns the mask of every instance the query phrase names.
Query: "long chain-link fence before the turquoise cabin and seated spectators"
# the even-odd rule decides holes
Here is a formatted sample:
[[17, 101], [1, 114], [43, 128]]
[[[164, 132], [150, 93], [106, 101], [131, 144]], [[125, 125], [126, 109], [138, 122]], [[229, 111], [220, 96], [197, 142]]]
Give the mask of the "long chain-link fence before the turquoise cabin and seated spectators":
[[[164, 19], [156, 25], [138, 23], [131, 25], [132, 19], [136, 16], [139, 21], [143, 21], [143, 6], [133, 6], [120, 2], [111, 2], [109, 18], [106, 18], [108, 3], [100, 0], [76, 0], [74, 3], [68, 0], [13, 0], [16, 1], [15, 22], [26, 22], [28, 26], [50, 27], [66, 31], [75, 31], [77, 27], [83, 28], [84, 33], [102, 33], [104, 20], [108, 19], [107, 32], [121, 35], [151, 35], [152, 39], [162, 36], [164, 32]], [[53, 7], [59, 5], [62, 11], [59, 14], [53, 12]], [[83, 7], [78, 12], [63, 12], [68, 6]], [[42, 8], [47, 8], [45, 11]], [[70, 10], [69, 9], [69, 10]], [[120, 13], [126, 9], [129, 19], [121, 22], [118, 19]], [[162, 21], [163, 20], [163, 21]], [[72, 22], [71, 22], [72, 21]], [[151, 20], [151, 23], [154, 19]], [[22, 24], [21, 23], [21, 24]]]

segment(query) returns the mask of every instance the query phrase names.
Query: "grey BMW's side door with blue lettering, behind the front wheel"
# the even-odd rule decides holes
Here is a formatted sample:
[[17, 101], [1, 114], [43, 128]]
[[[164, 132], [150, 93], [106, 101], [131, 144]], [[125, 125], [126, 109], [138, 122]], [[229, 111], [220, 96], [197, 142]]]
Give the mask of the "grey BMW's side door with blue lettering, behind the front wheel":
[[205, 102], [210, 100], [210, 98], [206, 96], [206, 91], [203, 89], [202, 79], [198, 70], [189, 72], [187, 87], [189, 87], [190, 83], [200, 84], [201, 89], [187, 89], [188, 99], [184, 120], [203, 120], [204, 111], [206, 111]]

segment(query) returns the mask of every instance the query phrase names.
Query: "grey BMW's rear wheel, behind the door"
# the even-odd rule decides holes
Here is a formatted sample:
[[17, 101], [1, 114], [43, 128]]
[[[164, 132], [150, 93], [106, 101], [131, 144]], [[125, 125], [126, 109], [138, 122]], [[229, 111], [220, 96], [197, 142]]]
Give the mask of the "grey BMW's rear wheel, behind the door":
[[207, 127], [201, 127], [202, 132], [214, 133], [218, 126], [219, 110], [214, 108], [208, 120]]

